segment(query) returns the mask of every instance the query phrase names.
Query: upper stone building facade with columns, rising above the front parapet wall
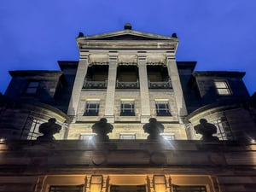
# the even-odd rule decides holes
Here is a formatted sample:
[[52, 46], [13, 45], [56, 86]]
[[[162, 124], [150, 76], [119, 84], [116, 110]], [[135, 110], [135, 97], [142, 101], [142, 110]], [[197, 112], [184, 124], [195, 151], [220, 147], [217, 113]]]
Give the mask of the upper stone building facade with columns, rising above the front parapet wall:
[[[113, 124], [112, 139], [145, 139], [143, 125], [149, 118], [165, 126], [162, 134], [168, 139], [200, 139], [193, 127], [201, 118], [218, 126], [221, 140], [253, 134], [253, 112], [244, 107], [250, 98], [242, 81], [245, 73], [194, 72], [195, 61], [176, 61], [175, 33], [166, 37], [127, 25], [118, 32], [79, 33], [76, 41], [79, 61], [59, 61], [61, 71], [10, 72], [5, 96], [42, 109], [34, 115], [38, 109], [26, 113], [15, 104], [22, 122], [9, 121], [6, 111], [3, 137], [24, 139], [31, 126], [29, 138], [34, 139], [38, 125], [49, 117], [63, 125], [58, 139], [91, 137], [91, 126], [102, 118]], [[244, 118], [238, 122], [240, 115]], [[17, 125], [21, 130], [13, 129]]]

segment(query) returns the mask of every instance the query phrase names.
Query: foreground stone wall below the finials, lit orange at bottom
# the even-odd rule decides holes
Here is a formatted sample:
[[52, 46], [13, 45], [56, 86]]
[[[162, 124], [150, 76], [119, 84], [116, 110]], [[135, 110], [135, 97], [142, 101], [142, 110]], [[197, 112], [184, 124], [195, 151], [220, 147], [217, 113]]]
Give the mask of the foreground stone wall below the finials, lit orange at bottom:
[[90, 188], [91, 177], [102, 177], [102, 191], [111, 184], [145, 184], [154, 191], [154, 177], [164, 179], [166, 190], [200, 185], [207, 192], [254, 191], [255, 149], [255, 143], [233, 142], [2, 141], [0, 191], [46, 192], [51, 185], [84, 183]]

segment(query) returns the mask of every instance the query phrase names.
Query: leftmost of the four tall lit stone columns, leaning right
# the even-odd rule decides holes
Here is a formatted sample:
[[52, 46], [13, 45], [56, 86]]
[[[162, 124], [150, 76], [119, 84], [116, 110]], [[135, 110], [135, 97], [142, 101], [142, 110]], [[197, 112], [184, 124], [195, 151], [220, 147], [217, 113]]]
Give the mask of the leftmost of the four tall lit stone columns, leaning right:
[[69, 102], [67, 115], [73, 118], [73, 122], [76, 120], [78, 106], [79, 106], [79, 99], [80, 93], [84, 85], [84, 78], [87, 73], [88, 68], [88, 57], [84, 56], [83, 59], [79, 61], [79, 67], [77, 70], [76, 78], [73, 84], [72, 96]]

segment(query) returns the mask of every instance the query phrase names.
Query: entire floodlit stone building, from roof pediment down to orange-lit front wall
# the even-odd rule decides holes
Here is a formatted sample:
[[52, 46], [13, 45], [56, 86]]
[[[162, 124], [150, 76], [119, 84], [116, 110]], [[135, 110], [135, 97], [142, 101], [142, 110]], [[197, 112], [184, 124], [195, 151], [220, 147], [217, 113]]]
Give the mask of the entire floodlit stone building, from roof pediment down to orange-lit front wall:
[[[79, 61], [61, 71], [11, 71], [1, 96], [0, 191], [253, 191], [255, 96], [241, 72], [195, 72], [172, 37], [124, 30], [79, 33]], [[36, 140], [55, 118], [55, 141]], [[109, 141], [92, 126], [113, 125]], [[150, 118], [164, 126], [148, 141]], [[200, 119], [219, 142], [196, 134]]]

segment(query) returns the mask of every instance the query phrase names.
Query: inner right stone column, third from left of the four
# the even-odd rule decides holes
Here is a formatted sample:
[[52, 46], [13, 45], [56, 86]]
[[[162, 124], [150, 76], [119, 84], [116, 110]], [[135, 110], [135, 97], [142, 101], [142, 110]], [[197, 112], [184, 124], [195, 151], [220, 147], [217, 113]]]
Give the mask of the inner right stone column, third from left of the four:
[[146, 56], [139, 55], [138, 57], [139, 79], [140, 79], [140, 94], [141, 94], [141, 123], [148, 123], [150, 118], [150, 102], [148, 93], [148, 74]]

